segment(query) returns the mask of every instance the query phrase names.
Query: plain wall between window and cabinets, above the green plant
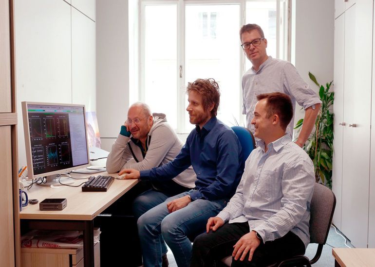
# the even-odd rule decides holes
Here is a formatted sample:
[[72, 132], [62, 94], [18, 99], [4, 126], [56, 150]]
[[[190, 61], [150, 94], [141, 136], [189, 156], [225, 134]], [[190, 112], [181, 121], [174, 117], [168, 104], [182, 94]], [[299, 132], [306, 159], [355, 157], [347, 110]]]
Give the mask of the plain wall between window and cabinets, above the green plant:
[[[309, 71], [320, 84], [333, 80], [334, 10], [333, 0], [293, 0], [292, 63], [301, 77], [319, 92]], [[296, 108], [295, 122], [304, 115]]]

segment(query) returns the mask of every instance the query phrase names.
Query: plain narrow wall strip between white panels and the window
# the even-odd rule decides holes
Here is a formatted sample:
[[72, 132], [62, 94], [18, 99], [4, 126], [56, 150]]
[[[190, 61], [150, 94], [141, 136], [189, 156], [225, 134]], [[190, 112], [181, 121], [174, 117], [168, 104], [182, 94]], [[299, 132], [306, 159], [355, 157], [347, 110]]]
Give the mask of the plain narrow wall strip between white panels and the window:
[[96, 1], [96, 97], [102, 148], [111, 150], [129, 108], [127, 0]]

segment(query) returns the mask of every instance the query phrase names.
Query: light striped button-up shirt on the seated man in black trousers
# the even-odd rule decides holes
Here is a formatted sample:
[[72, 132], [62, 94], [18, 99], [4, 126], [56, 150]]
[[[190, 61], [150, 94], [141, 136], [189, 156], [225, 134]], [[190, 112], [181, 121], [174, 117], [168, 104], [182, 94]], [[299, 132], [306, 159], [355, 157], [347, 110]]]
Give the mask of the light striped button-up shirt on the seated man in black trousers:
[[236, 193], [218, 217], [229, 223], [248, 221], [250, 231], [272, 241], [289, 231], [310, 242], [310, 201], [314, 165], [289, 134], [268, 144], [258, 142], [245, 163]]

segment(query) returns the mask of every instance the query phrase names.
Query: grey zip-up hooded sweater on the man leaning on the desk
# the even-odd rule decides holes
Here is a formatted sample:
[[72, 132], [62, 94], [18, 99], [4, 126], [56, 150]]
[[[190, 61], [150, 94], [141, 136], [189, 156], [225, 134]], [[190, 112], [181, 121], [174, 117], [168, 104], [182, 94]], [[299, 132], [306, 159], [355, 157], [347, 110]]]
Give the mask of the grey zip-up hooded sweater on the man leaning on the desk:
[[[107, 158], [107, 172], [114, 173], [124, 168], [147, 170], [167, 164], [178, 155], [183, 144], [167, 123], [166, 115], [153, 113], [152, 116], [154, 119], [146, 139], [148, 150], [145, 158], [131, 136], [119, 134]], [[137, 160], [134, 159], [131, 150]], [[195, 172], [190, 166], [173, 178], [173, 181], [182, 186], [194, 188], [196, 179]]]

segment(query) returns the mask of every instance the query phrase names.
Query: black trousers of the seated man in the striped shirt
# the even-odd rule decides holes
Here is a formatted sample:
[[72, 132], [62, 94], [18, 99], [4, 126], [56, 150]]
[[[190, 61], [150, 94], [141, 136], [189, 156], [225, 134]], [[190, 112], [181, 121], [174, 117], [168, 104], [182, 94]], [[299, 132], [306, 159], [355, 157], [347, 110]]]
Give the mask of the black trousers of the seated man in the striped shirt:
[[[250, 232], [248, 222], [225, 223], [216, 232], [200, 234], [193, 243], [192, 257], [190, 267], [212, 267], [215, 261], [221, 261], [222, 258], [229, 256], [233, 252], [233, 246], [244, 235]], [[288, 232], [281, 238], [273, 241], [261, 242], [254, 251], [253, 258], [248, 261], [247, 253], [244, 261], [240, 258], [236, 261], [232, 257], [232, 267], [250, 266], [261, 267], [268, 266], [275, 262], [287, 259], [295, 255], [303, 255], [305, 246], [300, 238]]]

